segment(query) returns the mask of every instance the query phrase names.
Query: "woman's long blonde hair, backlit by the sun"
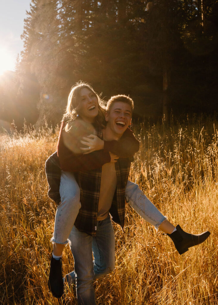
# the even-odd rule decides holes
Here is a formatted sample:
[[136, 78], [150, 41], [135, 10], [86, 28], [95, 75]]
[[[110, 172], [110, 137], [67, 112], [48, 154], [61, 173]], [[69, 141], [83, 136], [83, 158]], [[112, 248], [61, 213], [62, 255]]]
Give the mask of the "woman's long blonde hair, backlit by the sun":
[[87, 88], [97, 97], [98, 115], [95, 118], [95, 122], [98, 123], [100, 127], [105, 127], [105, 102], [100, 99], [98, 93], [96, 93], [89, 84], [79, 81], [75, 85], [73, 85], [70, 90], [66, 110], [63, 115], [63, 120], [66, 121], [66, 131], [70, 130], [69, 123], [75, 120], [75, 118], [80, 114], [80, 91], [83, 88]]

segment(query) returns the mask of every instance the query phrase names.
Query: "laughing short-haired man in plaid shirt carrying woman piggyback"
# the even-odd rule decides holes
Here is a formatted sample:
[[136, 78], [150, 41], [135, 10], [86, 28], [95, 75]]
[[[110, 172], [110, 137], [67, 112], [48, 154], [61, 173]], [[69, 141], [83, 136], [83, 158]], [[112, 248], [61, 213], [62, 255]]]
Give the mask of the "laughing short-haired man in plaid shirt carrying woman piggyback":
[[[105, 140], [120, 139], [131, 124], [133, 108], [133, 101], [127, 96], [117, 95], [109, 100], [105, 113], [107, 125], [102, 130]], [[102, 168], [78, 173], [81, 208], [69, 239], [80, 305], [96, 304], [94, 278], [114, 269], [115, 239], [109, 213], [123, 228], [130, 163], [128, 158], [118, 159]]]

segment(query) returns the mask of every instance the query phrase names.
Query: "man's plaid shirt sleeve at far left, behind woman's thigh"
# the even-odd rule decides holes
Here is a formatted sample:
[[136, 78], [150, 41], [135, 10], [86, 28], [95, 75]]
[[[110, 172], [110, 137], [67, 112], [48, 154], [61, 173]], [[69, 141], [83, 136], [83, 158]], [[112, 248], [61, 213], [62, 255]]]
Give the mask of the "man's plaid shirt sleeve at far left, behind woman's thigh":
[[48, 197], [59, 204], [61, 201], [59, 193], [61, 168], [57, 152], [54, 152], [45, 161], [45, 174], [48, 181]]

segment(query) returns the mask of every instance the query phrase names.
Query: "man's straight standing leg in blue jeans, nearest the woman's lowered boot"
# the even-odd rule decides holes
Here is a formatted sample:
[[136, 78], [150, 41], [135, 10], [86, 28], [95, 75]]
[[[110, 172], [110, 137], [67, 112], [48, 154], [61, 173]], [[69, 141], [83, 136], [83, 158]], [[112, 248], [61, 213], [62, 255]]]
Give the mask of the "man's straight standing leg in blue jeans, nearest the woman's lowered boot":
[[80, 232], [75, 226], [70, 232], [71, 251], [79, 305], [96, 305], [93, 279], [92, 236]]

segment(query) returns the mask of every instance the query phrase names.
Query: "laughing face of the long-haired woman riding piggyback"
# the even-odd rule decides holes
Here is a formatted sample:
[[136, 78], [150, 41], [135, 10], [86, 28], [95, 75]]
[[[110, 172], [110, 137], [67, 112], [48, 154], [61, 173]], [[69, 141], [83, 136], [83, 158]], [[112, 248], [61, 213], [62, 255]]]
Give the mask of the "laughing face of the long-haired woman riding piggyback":
[[93, 123], [98, 115], [98, 99], [88, 88], [80, 90], [79, 116], [88, 123]]

